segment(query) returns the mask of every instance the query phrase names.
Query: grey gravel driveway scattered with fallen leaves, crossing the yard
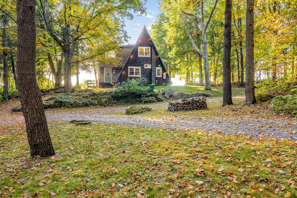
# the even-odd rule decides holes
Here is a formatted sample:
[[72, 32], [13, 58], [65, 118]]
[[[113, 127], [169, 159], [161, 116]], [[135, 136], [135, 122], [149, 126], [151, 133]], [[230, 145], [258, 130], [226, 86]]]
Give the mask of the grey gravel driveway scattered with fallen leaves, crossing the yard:
[[[243, 97], [244, 98], [244, 97]], [[233, 100], [242, 99], [242, 97]], [[222, 99], [208, 99], [207, 102], [220, 102]], [[167, 107], [168, 104], [150, 104], [152, 108]], [[169, 130], [198, 130], [206, 132], [220, 132], [222, 134], [247, 134], [251, 136], [290, 138], [297, 140], [295, 133], [297, 122], [291, 121], [256, 121], [256, 120], [222, 120], [222, 119], [172, 119], [168, 121], [162, 118], [153, 118], [143, 115], [106, 115], [111, 112], [124, 112], [128, 107], [111, 107], [86, 111], [71, 111], [63, 113], [48, 113], [46, 115], [49, 122], [68, 122], [73, 119], [89, 120], [97, 123], [123, 124], [127, 126], [143, 126], [150, 128], [163, 128]]]

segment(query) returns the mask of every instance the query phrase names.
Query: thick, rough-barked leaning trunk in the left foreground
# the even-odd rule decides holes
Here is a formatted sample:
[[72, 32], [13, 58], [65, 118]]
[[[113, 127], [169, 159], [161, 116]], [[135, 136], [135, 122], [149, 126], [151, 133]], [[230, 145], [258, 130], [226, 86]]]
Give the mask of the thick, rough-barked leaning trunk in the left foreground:
[[17, 75], [31, 156], [55, 154], [35, 72], [35, 1], [17, 0]]

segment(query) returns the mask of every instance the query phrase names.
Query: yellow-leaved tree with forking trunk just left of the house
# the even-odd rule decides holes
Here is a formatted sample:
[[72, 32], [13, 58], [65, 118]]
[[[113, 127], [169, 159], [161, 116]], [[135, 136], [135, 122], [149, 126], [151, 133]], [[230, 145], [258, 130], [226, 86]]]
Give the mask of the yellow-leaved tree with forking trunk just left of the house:
[[129, 10], [138, 12], [140, 15], [145, 14], [144, 3], [139, 0], [62, 1], [57, 10], [53, 10], [56, 12], [53, 15], [58, 15], [58, 18], [63, 20], [59, 20], [60, 24], [53, 26], [55, 21], [50, 21], [48, 0], [38, 2], [40, 2], [37, 4], [38, 10], [47, 31], [64, 51], [65, 93], [72, 89], [71, 60], [78, 41], [95, 40], [97, 43], [102, 43], [102, 40], [112, 40], [119, 34], [126, 34], [122, 30], [123, 18], [133, 18]]

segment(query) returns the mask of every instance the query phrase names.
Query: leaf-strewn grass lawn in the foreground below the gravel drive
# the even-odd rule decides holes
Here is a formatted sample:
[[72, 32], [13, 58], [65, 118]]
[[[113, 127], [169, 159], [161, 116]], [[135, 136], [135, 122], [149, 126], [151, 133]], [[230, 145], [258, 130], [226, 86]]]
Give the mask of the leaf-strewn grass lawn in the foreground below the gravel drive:
[[50, 124], [56, 155], [31, 159], [0, 128], [2, 197], [296, 197], [297, 144], [108, 124]]

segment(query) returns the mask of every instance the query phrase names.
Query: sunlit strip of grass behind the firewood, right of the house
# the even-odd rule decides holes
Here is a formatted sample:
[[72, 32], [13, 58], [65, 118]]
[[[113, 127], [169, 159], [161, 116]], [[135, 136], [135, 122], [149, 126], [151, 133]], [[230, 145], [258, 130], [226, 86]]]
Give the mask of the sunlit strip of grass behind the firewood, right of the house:
[[[173, 89], [174, 92], [192, 92], [192, 93], [198, 93], [198, 92], [204, 92], [210, 94], [210, 98], [217, 98], [217, 97], [223, 97], [223, 87], [212, 87], [211, 90], [207, 91], [204, 90], [204, 87], [201, 86], [155, 86], [157, 90], [160, 90], [162, 88], [165, 89]], [[238, 88], [238, 87], [232, 87], [232, 96], [244, 96], [244, 88]]]

